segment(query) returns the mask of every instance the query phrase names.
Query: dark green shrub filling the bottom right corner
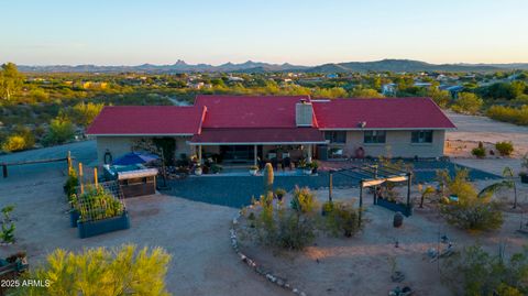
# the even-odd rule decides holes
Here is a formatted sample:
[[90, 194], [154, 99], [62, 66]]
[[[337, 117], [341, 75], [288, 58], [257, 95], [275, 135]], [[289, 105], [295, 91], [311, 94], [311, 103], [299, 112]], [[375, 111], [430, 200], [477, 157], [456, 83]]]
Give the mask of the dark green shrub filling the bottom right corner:
[[502, 295], [528, 294], [528, 249], [513, 254], [508, 260], [503, 253], [485, 252], [479, 245], [465, 248], [444, 261], [447, 272], [442, 279], [454, 295]]

